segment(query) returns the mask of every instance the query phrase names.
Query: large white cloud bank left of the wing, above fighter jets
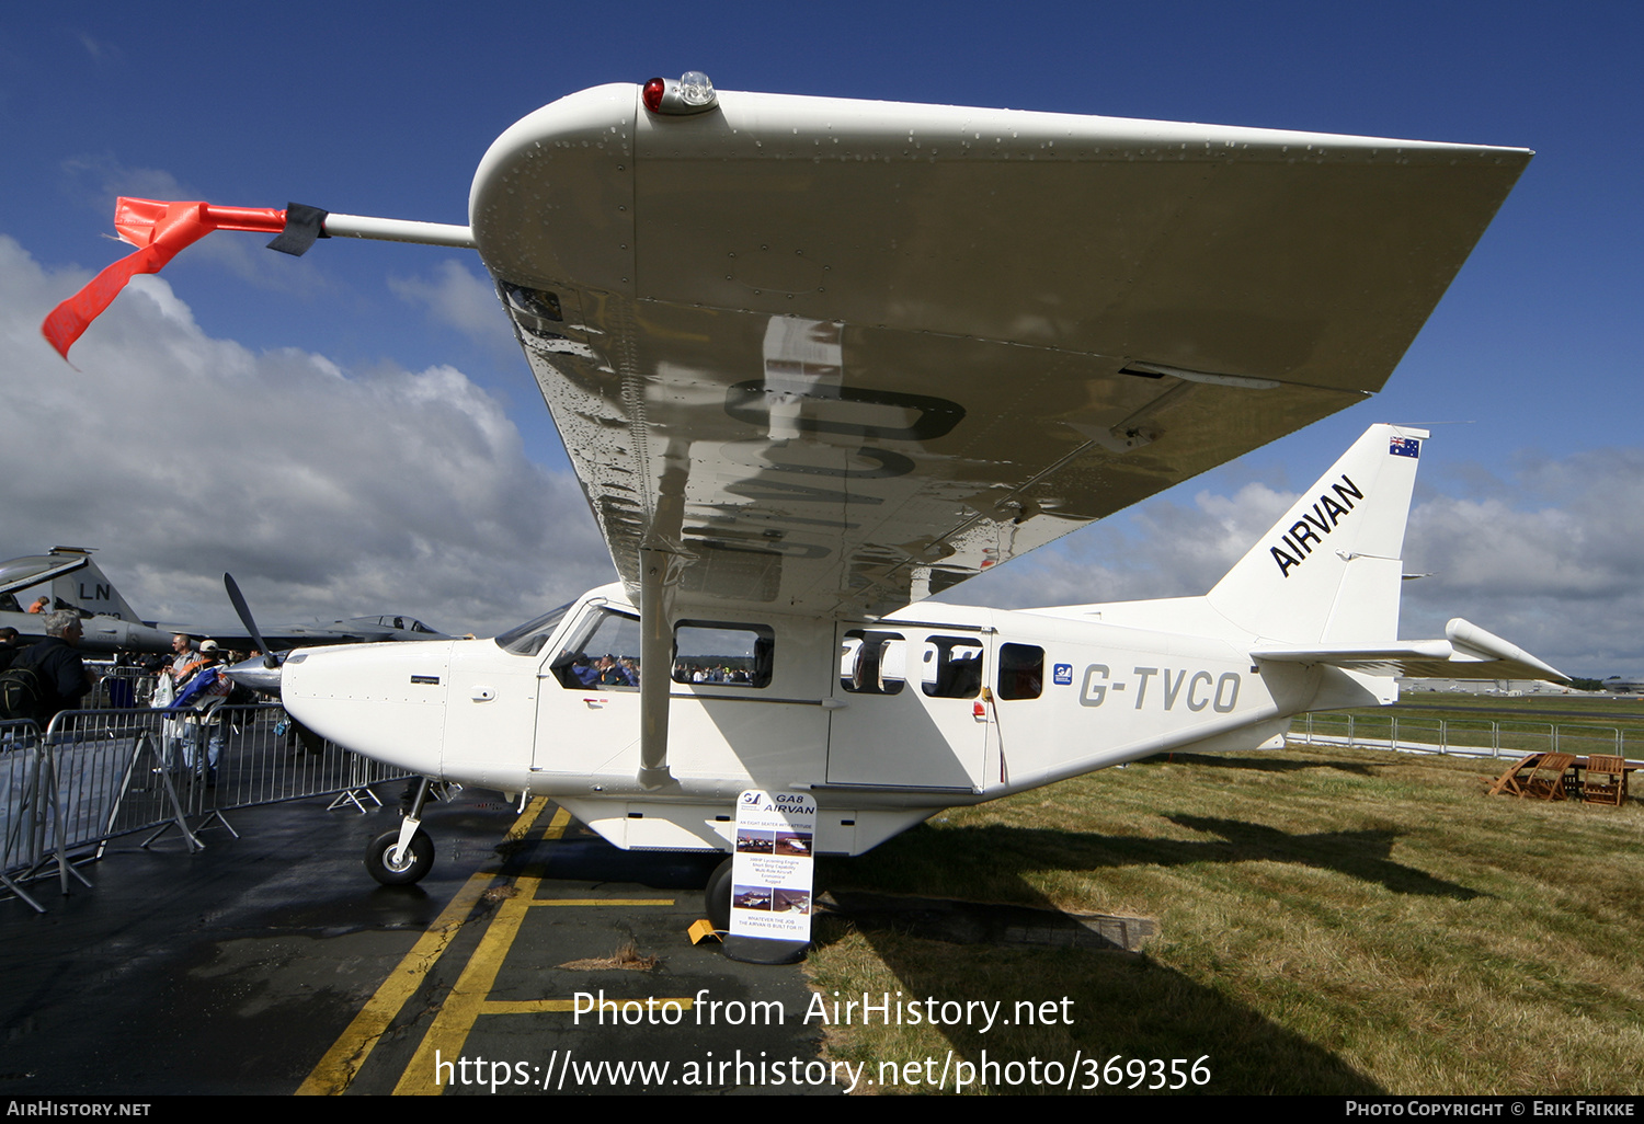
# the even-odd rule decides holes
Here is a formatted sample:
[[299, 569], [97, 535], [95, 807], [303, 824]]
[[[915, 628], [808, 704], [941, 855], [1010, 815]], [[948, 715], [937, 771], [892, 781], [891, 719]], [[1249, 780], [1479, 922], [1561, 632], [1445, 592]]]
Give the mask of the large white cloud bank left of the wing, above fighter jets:
[[0, 557], [102, 547], [150, 618], [230, 621], [230, 570], [268, 623], [408, 613], [482, 633], [612, 578], [575, 480], [531, 463], [462, 371], [253, 353], [201, 332], [159, 278], [128, 286], [74, 370], [39, 322], [84, 281], [0, 237]]

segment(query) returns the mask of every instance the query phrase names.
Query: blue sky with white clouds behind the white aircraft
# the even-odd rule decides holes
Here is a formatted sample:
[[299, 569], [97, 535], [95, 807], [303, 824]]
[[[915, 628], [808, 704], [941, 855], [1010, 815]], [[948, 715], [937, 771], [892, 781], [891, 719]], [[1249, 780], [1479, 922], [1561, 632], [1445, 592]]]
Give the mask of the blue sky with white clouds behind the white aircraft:
[[[122, 253], [107, 238], [115, 194], [465, 222], [473, 166], [513, 120], [587, 85], [702, 69], [725, 89], [1534, 148], [1386, 393], [962, 592], [1016, 605], [1202, 592], [1277, 496], [1366, 424], [1468, 422], [1438, 426], [1429, 445], [1411, 560], [1442, 575], [1412, 583], [1427, 588], [1407, 598], [1406, 634], [1437, 634], [1460, 611], [1567, 670], [1644, 670], [1644, 552], [1632, 546], [1644, 529], [1641, 13], [13, 7], [0, 28], [0, 286], [12, 307], [0, 309], [0, 370], [23, 432], [0, 463], [13, 495], [18, 480], [33, 486], [0, 527], [0, 554], [100, 546], [127, 597], [169, 618], [220, 618], [212, 575], [229, 567], [275, 613], [411, 611], [452, 629], [495, 628], [603, 580], [524, 362], [501, 314], [475, 302], [472, 255], [332, 242], [293, 261], [253, 235], [215, 235], [122, 297], [132, 307], [110, 314], [109, 358], [92, 370], [95, 348], [84, 362], [76, 350], [81, 375], [41, 360], [25, 312], [38, 325], [39, 306]], [[266, 380], [284, 368], [301, 370], [281, 398]], [[238, 408], [210, 389], [212, 370], [240, 371], [227, 396]], [[326, 383], [332, 375], [342, 383]], [[350, 409], [362, 411], [352, 426]], [[316, 412], [335, 424], [330, 437], [270, 437]], [[482, 435], [441, 431], [452, 412], [480, 419]], [[423, 424], [446, 437], [408, 450]], [[293, 445], [307, 450], [298, 475], [355, 495], [309, 509], [252, 475], [289, 480]], [[100, 472], [61, 472], [69, 458]], [[423, 472], [423, 495], [477, 488], [473, 473], [495, 480], [460, 503], [423, 503], [393, 495], [391, 480], [340, 485], [360, 463], [401, 481]], [[191, 475], [214, 478], [206, 501], [179, 483]], [[89, 503], [87, 490], [102, 498]], [[375, 526], [385, 509], [413, 531]], [[493, 527], [488, 539], [475, 523]], [[1422, 534], [1435, 546], [1420, 547]], [[1198, 560], [1180, 559], [1184, 536], [1207, 546]]]

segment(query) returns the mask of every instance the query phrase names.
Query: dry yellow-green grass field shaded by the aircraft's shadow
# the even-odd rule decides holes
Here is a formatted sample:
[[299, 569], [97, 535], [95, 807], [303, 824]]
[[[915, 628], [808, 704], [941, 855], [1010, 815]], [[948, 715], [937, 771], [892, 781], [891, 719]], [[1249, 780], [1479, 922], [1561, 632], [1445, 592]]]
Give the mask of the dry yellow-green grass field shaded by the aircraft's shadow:
[[[957, 808], [868, 856], [824, 861], [820, 889], [1143, 915], [1161, 928], [1138, 956], [955, 945], [822, 917], [810, 971], [824, 994], [1003, 1001], [1006, 1016], [1065, 996], [1074, 1019], [855, 1025], [832, 1029], [829, 1052], [870, 1075], [986, 1052], [1060, 1062], [1064, 1080], [1078, 1057], [1075, 1088], [1092, 1075], [1085, 1058], [1118, 1055], [1118, 1075], [1131, 1058], [1208, 1055], [1210, 1093], [1644, 1091], [1644, 805], [1486, 799], [1481, 777], [1498, 771], [1295, 746], [1159, 758]], [[990, 1085], [1037, 1091], [1009, 1076]]]

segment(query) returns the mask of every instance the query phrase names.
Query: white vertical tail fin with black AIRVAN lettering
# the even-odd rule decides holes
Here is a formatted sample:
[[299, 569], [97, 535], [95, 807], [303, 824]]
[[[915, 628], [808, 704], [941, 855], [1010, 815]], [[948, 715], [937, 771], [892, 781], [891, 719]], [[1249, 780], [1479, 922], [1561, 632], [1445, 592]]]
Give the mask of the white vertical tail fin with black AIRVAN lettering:
[[1217, 582], [1212, 606], [1266, 639], [1397, 638], [1404, 523], [1425, 437], [1371, 426]]

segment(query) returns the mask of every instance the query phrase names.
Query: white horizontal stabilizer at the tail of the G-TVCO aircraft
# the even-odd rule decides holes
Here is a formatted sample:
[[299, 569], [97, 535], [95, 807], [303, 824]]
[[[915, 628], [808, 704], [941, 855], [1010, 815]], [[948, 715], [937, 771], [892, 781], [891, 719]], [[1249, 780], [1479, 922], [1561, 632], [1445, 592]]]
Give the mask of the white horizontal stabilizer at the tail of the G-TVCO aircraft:
[[1445, 639], [1391, 644], [1332, 644], [1327, 647], [1258, 647], [1254, 659], [1281, 664], [1328, 664], [1348, 670], [1417, 679], [1547, 679], [1570, 677], [1522, 647], [1486, 633], [1460, 616], [1443, 626]]

